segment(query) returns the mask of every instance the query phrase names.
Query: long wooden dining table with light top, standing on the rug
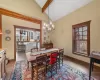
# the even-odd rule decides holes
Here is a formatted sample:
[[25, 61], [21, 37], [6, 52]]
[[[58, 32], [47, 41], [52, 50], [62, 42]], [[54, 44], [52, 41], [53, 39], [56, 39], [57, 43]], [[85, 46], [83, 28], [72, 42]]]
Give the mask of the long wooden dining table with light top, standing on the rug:
[[46, 49], [46, 50], [40, 50], [40, 51], [35, 51], [35, 52], [27, 52], [26, 53], [26, 58], [27, 58], [27, 69], [29, 69], [29, 64], [31, 66], [31, 80], [33, 80], [34, 76], [34, 63], [36, 62], [36, 57], [41, 56], [42, 54], [47, 54], [47, 56], [50, 56], [52, 52], [61, 50], [60, 48], [52, 48], [52, 49]]

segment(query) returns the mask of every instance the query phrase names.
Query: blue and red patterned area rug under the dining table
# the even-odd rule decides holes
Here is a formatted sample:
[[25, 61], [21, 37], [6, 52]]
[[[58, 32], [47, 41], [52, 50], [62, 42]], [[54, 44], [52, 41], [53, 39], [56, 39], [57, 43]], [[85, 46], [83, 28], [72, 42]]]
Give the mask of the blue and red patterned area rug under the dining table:
[[[26, 70], [27, 63], [26, 61], [16, 62], [15, 69], [12, 73], [10, 80], [31, 80], [31, 71]], [[49, 72], [47, 73], [47, 77], [49, 77]], [[89, 80], [87, 74], [82, 73], [75, 68], [72, 68], [69, 65], [65, 65], [58, 70], [58, 73], [55, 74], [52, 78], [47, 78], [47, 80]], [[96, 80], [96, 79], [91, 79]]]

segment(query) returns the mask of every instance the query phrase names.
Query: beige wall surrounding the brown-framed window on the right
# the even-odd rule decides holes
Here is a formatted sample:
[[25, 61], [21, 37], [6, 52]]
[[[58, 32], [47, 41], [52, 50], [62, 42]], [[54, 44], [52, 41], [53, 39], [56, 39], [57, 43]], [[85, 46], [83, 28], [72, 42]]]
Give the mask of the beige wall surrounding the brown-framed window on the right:
[[72, 54], [72, 25], [88, 20], [91, 20], [91, 51], [100, 51], [100, 0], [94, 0], [85, 7], [56, 21], [56, 29], [50, 36], [54, 46], [64, 48], [65, 55], [89, 62], [89, 58]]

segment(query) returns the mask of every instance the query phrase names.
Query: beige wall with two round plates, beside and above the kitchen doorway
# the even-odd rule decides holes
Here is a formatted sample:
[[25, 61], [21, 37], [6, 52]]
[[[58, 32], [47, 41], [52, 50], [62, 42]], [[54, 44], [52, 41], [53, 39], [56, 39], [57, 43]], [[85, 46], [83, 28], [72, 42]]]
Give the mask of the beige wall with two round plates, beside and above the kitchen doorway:
[[[32, 22], [3, 15], [2, 16], [2, 30], [3, 30], [2, 47], [3, 49], [6, 49], [7, 58], [9, 59], [14, 59], [14, 25], [40, 29], [39, 24], [35, 24]], [[5, 30], [10, 30], [11, 34], [6, 34]], [[11, 40], [6, 41], [5, 40], [6, 36], [11, 37]]]

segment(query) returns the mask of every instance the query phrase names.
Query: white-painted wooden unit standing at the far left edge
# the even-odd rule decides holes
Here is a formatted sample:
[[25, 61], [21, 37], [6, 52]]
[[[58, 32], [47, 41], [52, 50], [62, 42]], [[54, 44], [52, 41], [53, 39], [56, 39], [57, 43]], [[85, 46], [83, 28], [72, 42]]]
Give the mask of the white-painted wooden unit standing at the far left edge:
[[0, 50], [0, 80], [6, 77], [6, 51]]

